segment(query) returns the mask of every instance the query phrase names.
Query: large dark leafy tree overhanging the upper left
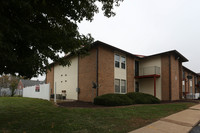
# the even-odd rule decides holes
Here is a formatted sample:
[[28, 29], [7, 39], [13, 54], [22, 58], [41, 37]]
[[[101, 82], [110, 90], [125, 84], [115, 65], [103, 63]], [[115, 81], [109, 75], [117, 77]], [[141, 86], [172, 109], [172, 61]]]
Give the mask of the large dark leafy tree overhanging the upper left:
[[2, 0], [0, 1], [0, 74], [31, 78], [46, 71], [48, 59], [69, 65], [57, 53], [84, 55], [93, 38], [77, 24], [92, 21], [102, 4], [106, 17], [123, 0]]

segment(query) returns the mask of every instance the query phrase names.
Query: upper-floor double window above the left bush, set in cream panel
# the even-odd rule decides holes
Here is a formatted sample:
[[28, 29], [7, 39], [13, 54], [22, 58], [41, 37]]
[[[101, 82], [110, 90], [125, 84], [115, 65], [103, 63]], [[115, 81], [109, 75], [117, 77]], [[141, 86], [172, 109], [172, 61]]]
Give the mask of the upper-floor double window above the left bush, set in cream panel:
[[115, 67], [126, 69], [126, 58], [115, 54]]

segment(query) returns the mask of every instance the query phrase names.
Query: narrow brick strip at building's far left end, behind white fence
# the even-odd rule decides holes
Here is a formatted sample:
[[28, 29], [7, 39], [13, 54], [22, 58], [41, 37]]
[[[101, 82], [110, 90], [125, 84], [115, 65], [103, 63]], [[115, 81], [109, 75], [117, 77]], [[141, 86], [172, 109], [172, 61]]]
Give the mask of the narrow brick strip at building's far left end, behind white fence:
[[51, 70], [47, 70], [46, 73], [46, 83], [50, 83], [51, 94], [54, 93], [54, 66], [51, 67]]

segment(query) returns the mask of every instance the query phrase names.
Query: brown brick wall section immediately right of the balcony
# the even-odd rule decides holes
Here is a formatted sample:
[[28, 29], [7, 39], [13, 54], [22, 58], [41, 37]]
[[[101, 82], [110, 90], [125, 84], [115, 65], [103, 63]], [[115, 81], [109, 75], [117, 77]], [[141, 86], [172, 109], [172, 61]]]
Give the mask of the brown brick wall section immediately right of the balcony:
[[[171, 67], [169, 67], [170, 64]], [[182, 94], [182, 62], [176, 59], [173, 54], [165, 54], [161, 56], [161, 66], [161, 100], [179, 100]]]

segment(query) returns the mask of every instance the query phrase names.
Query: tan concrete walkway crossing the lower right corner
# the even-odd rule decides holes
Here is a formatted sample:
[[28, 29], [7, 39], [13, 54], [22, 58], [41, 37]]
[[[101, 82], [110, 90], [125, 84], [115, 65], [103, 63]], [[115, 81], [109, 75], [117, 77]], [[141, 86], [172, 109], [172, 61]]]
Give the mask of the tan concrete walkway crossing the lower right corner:
[[200, 104], [130, 133], [188, 133], [200, 121]]

